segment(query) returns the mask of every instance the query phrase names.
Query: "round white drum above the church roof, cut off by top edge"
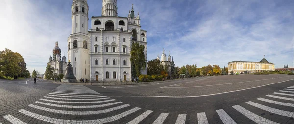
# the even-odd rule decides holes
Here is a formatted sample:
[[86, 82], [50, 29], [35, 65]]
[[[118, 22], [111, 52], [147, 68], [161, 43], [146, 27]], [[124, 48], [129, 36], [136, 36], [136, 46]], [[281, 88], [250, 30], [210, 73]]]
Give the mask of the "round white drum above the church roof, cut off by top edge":
[[118, 16], [117, 0], [102, 0], [102, 16]]

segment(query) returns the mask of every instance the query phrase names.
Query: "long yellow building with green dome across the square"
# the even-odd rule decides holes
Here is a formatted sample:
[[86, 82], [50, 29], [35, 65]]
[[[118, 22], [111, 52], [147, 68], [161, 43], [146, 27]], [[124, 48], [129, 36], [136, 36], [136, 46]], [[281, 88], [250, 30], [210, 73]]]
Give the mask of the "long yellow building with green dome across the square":
[[229, 74], [255, 73], [263, 71], [274, 71], [274, 64], [268, 62], [265, 58], [262, 58], [260, 62], [250, 61], [232, 61], [228, 63]]

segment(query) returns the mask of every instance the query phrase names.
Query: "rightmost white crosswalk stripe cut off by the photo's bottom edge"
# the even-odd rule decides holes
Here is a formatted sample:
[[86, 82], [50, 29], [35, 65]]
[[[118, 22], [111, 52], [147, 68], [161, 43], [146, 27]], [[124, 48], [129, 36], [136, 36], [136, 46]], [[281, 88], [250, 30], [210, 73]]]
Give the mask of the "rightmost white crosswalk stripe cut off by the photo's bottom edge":
[[271, 120], [268, 120], [266, 118], [260, 117], [259, 115], [256, 115], [256, 114], [246, 110], [244, 107], [241, 107], [240, 105], [235, 105], [232, 107], [235, 108], [237, 111], [239, 111], [244, 116], [246, 116], [247, 118], [249, 118], [250, 120], [252, 120], [258, 124], [279, 124], [279, 123], [273, 122]]

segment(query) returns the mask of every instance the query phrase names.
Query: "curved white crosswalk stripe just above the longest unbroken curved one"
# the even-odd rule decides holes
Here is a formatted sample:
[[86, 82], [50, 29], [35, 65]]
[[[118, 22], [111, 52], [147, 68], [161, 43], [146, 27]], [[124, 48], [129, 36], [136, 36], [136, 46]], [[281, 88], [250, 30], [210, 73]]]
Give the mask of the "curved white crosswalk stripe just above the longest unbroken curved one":
[[43, 110], [43, 111], [49, 111], [49, 112], [53, 112], [53, 113], [60, 113], [60, 114], [68, 114], [68, 115], [94, 115], [94, 114], [102, 114], [102, 113], [108, 113], [111, 111], [115, 111], [115, 110], [119, 110], [128, 106], [131, 106], [129, 104], [124, 104], [121, 106], [117, 106], [117, 107], [113, 107], [113, 108], [108, 108], [108, 109], [104, 109], [104, 110], [98, 110], [98, 111], [65, 111], [65, 110], [56, 110], [56, 109], [51, 109], [51, 108], [46, 108], [46, 107], [41, 107], [38, 105], [33, 105], [30, 104], [28, 105], [29, 107], [32, 108], [36, 108], [39, 110]]

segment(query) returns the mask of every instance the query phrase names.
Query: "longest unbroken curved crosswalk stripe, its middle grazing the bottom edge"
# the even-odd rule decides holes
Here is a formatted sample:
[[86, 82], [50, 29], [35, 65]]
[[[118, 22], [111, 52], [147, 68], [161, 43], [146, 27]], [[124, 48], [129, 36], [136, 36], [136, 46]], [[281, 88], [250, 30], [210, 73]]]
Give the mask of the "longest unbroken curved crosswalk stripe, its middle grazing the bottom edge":
[[[114, 115], [112, 117], [107, 117], [107, 118], [103, 118], [103, 119], [94, 119], [94, 120], [87, 120], [87, 122], [91, 122], [91, 121], [94, 121], [94, 122], [97, 122], [96, 124], [103, 124], [103, 123], [109, 123], [109, 122], [113, 122], [113, 121], [116, 121], [116, 120], [119, 120], [131, 113], [134, 113], [136, 111], [138, 111], [139, 109], [141, 108], [138, 108], [138, 107], [135, 107], [133, 109], [130, 109], [128, 111], [125, 111], [123, 113], [120, 113], [118, 115]], [[60, 124], [61, 122], [69, 122], [68, 124], [86, 124], [86, 120], [63, 120], [63, 119], [56, 119], [56, 118], [50, 118], [50, 117], [47, 117], [47, 116], [42, 116], [42, 115], [39, 115], [39, 114], [36, 114], [36, 113], [32, 113], [32, 112], [29, 112], [29, 111], [26, 111], [24, 109], [21, 109], [19, 110], [20, 113], [23, 113], [27, 116], [30, 116], [30, 117], [33, 117], [35, 119], [39, 119], [39, 120], [42, 120], [42, 121], [45, 121], [45, 122], [49, 122], [49, 123], [52, 123], [53, 124]], [[45, 119], [47, 118], [47, 119]], [[48, 121], [49, 120], [49, 121]], [[53, 120], [53, 121], [51, 121]]]

